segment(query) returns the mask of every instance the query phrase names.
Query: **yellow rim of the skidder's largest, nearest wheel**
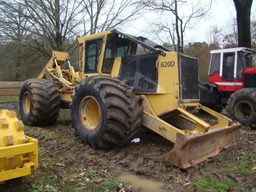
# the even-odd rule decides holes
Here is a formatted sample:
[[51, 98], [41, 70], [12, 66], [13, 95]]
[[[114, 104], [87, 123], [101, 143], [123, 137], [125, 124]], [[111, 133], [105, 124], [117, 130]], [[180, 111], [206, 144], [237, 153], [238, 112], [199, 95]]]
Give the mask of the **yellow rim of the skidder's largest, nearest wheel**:
[[80, 120], [84, 128], [94, 131], [100, 122], [100, 107], [93, 96], [86, 96], [80, 104]]

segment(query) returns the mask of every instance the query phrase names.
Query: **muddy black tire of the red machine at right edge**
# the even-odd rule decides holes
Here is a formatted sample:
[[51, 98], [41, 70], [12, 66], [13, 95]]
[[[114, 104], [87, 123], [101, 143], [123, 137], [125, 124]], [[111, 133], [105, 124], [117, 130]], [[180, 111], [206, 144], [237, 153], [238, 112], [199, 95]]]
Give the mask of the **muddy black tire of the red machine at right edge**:
[[226, 107], [228, 117], [243, 126], [256, 128], [256, 88], [243, 88], [234, 92]]

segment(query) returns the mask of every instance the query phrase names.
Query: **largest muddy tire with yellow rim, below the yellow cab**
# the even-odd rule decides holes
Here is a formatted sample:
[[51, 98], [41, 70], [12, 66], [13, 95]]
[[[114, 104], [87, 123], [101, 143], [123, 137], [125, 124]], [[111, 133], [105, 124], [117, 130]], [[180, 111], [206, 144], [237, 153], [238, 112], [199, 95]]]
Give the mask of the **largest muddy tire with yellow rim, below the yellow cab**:
[[72, 95], [75, 135], [92, 148], [111, 149], [134, 139], [140, 130], [142, 96], [127, 80], [91, 76], [80, 81]]

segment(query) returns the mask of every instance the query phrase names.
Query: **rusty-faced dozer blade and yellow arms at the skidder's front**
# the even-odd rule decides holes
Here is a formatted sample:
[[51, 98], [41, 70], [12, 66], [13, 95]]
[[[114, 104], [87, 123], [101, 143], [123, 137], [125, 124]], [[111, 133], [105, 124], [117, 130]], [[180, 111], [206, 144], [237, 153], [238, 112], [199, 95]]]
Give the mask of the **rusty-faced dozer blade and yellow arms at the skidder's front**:
[[222, 148], [236, 145], [236, 130], [241, 124], [205, 106], [201, 109], [218, 118], [217, 124], [210, 126], [182, 108], [172, 117], [158, 118], [146, 98], [143, 106], [142, 124], [174, 143], [166, 158], [179, 168], [196, 165], [216, 156]]

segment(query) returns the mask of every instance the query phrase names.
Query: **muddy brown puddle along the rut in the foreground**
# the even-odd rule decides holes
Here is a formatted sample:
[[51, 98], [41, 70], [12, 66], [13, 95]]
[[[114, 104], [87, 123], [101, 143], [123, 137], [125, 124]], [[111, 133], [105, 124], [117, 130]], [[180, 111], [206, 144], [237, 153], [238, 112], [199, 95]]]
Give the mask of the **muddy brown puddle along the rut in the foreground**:
[[[56, 154], [60, 156], [74, 157], [74, 155], [70, 151], [60, 151]], [[88, 158], [88, 159], [95, 159], [101, 163], [105, 163], [105, 164], [107, 163], [108, 166], [112, 168], [112, 174], [118, 180], [129, 183], [132, 187], [139, 189], [140, 192], [167, 192], [168, 191], [166, 189], [162, 189], [162, 187], [164, 186], [164, 182], [145, 179], [145, 178], [141, 178], [138, 175], [134, 175], [131, 172], [124, 172], [122, 170], [121, 165], [111, 163], [105, 158], [101, 158], [96, 155], [90, 155], [87, 153], [82, 153], [81, 156], [84, 156], [85, 158]]]

